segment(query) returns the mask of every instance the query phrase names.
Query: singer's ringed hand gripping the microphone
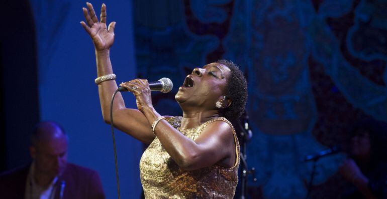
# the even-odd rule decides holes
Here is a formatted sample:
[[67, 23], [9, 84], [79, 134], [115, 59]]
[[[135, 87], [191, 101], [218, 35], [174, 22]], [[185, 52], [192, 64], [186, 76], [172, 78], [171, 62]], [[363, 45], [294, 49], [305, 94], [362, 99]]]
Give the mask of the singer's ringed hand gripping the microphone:
[[123, 82], [120, 86], [126, 88], [129, 92], [134, 94], [136, 97], [137, 108], [142, 113], [144, 113], [143, 111], [146, 108], [153, 107], [148, 80], [135, 79], [129, 82]]

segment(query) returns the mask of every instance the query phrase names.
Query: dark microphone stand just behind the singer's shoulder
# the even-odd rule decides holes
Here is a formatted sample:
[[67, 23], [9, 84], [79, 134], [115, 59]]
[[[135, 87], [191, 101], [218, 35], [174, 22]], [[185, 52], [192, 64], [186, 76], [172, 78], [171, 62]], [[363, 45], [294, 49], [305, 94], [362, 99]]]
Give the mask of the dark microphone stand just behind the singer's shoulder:
[[[252, 167], [250, 170], [248, 169], [247, 165], [247, 142], [251, 139], [252, 137], [252, 131], [249, 127], [249, 117], [247, 113], [245, 112], [242, 116], [243, 118], [243, 123], [244, 123], [244, 128], [240, 128], [240, 135], [241, 135], [241, 145], [242, 145], [242, 151], [241, 151], [241, 160], [242, 160], [242, 179], [241, 179], [241, 199], [246, 198], [246, 187], [247, 187], [247, 178], [249, 174], [253, 175], [253, 181], [257, 181], [257, 178], [255, 177], [255, 168]], [[241, 125], [241, 123], [239, 123]]]

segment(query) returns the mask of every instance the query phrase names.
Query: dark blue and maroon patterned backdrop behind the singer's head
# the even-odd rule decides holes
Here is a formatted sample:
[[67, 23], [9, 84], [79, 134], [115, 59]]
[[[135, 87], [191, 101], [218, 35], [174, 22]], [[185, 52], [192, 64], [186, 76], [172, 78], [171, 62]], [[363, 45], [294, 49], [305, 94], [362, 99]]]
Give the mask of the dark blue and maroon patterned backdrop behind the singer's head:
[[[312, 165], [300, 158], [345, 145], [359, 118], [387, 121], [385, 1], [136, 0], [133, 10], [138, 75], [175, 84], [154, 93], [161, 114], [181, 115], [174, 94], [194, 67], [225, 58], [244, 71], [254, 198], [305, 198]], [[331, 179], [344, 157], [317, 162], [313, 197], [340, 194], [345, 183]]]

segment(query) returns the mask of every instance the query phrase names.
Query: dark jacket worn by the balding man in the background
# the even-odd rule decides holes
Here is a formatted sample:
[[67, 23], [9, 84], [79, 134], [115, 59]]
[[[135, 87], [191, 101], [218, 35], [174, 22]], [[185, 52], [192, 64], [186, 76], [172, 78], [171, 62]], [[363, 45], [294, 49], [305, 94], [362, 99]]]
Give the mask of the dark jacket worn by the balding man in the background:
[[[24, 199], [26, 180], [31, 164], [0, 174], [0, 198]], [[55, 199], [59, 199], [61, 183], [64, 182], [63, 199], [103, 199], [105, 198], [101, 179], [97, 172], [68, 163], [63, 174], [58, 177]]]

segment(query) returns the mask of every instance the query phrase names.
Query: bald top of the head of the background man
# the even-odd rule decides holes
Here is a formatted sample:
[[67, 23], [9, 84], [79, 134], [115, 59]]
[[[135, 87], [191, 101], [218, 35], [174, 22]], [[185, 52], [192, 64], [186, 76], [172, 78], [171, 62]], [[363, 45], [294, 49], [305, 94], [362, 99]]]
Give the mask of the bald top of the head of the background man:
[[47, 143], [52, 140], [68, 140], [63, 128], [55, 122], [40, 122], [35, 126], [31, 135], [31, 145], [37, 146], [39, 143]]

